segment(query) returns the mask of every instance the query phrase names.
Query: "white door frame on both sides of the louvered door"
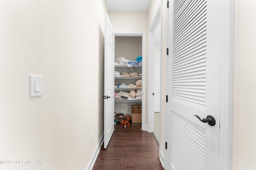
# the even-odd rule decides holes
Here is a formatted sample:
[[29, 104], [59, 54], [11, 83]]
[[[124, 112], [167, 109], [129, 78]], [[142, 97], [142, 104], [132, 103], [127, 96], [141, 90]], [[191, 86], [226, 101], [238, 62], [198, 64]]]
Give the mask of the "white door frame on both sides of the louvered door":
[[[172, 5], [171, 5], [172, 6]], [[170, 9], [166, 12], [166, 34], [168, 37], [168, 45], [172, 45], [171, 33], [168, 31], [172, 28], [169, 17]], [[234, 0], [226, 0], [221, 3], [221, 66], [220, 66], [220, 170], [232, 170], [232, 142], [233, 142], [233, 60], [234, 60]], [[169, 24], [170, 23], [170, 24]], [[169, 47], [170, 48], [170, 47]], [[168, 62], [166, 62], [168, 63]], [[167, 65], [166, 75], [168, 70], [171, 69]], [[167, 86], [172, 82], [167, 81]], [[169, 92], [170, 93], [170, 92]], [[168, 124], [167, 120], [170, 119], [170, 111], [166, 109], [165, 114], [165, 141], [170, 142], [170, 136], [168, 136]], [[169, 146], [171, 143], [169, 144]], [[168, 167], [168, 156], [171, 152], [171, 147], [166, 149], [164, 153], [164, 167]]]

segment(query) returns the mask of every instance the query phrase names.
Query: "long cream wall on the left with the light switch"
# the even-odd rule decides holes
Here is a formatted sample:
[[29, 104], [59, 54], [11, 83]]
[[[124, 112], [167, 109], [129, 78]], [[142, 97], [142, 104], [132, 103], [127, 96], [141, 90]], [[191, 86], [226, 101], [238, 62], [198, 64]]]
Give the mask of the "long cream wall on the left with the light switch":
[[0, 169], [86, 168], [103, 133], [105, 12], [104, 0], [0, 1], [0, 160], [44, 162]]

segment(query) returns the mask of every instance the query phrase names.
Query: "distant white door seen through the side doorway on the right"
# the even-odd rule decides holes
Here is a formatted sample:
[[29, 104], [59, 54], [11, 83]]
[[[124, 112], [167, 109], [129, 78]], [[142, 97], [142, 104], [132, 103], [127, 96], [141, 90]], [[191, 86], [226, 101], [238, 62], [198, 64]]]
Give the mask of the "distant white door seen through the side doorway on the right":
[[154, 112], [160, 112], [160, 53], [155, 53]]

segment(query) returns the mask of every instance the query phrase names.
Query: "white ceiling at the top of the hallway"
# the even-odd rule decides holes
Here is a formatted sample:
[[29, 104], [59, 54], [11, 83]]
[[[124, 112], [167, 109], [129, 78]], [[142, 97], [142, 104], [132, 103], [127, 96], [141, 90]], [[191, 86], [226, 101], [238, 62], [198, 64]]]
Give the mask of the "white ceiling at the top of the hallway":
[[151, 0], [105, 0], [108, 11], [148, 11]]

